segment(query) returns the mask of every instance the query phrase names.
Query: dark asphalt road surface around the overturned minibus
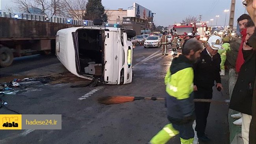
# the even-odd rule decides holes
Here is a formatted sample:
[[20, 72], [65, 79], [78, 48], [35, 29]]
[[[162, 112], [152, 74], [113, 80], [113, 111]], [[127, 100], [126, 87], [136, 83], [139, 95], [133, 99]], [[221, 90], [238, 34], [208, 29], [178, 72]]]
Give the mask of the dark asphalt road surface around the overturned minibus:
[[[169, 48], [169, 47], [168, 47]], [[104, 85], [98, 87], [70, 88], [76, 81], [67, 83], [24, 83], [26, 88], [15, 95], [5, 95], [7, 107], [21, 114], [61, 114], [61, 130], [5, 130], [0, 131], [0, 144], [145, 144], [163, 126], [168, 124], [163, 101], [139, 100], [115, 105], [101, 105], [102, 96], [164, 97], [163, 78], [172, 56], [161, 55], [161, 48], [134, 49], [132, 83], [127, 85]], [[169, 51], [170, 53], [171, 51]], [[33, 59], [33, 61], [31, 61]], [[22, 60], [23, 61], [23, 60]], [[26, 63], [15, 61], [1, 68], [1, 79], [13, 74], [68, 73], [56, 57], [40, 55], [24, 58]], [[61, 70], [60, 70], [61, 69]], [[19, 77], [19, 75], [15, 75]], [[213, 90], [213, 100], [228, 99], [227, 76], [223, 79], [223, 96]], [[81, 79], [80, 79], [81, 82]], [[85, 83], [85, 81], [83, 81]], [[79, 100], [95, 89], [86, 99]], [[15, 114], [1, 108], [0, 114]], [[206, 133], [211, 138], [207, 144], [229, 144], [228, 105], [211, 104]], [[197, 140], [195, 140], [197, 142]], [[168, 144], [180, 144], [179, 137]], [[199, 142], [199, 144], [203, 144]]]

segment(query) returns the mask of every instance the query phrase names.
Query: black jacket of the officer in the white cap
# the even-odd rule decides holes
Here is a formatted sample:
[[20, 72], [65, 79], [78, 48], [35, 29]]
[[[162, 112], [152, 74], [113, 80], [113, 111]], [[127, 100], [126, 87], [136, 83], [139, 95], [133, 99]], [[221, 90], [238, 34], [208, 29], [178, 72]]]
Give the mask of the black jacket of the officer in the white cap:
[[194, 64], [194, 85], [203, 89], [211, 89], [216, 83], [221, 83], [219, 72], [221, 63], [221, 55], [215, 54], [212, 58], [206, 51], [206, 48], [201, 52], [200, 60]]

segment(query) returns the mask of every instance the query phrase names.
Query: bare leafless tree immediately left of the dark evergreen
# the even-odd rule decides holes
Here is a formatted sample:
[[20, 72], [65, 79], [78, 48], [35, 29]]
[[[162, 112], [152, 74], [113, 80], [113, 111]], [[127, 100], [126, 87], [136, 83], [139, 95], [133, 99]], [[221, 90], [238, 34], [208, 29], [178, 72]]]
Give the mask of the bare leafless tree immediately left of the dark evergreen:
[[82, 20], [86, 12], [87, 0], [63, 0], [65, 11], [68, 12], [70, 17]]

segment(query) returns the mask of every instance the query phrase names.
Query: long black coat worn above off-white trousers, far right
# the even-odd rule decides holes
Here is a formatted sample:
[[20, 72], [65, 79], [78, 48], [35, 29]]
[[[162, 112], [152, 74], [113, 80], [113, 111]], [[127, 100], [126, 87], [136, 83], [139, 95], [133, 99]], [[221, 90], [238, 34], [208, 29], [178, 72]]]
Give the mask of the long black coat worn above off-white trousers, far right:
[[230, 99], [230, 109], [252, 115], [252, 94], [255, 80], [255, 51], [242, 50], [245, 63], [241, 66]]

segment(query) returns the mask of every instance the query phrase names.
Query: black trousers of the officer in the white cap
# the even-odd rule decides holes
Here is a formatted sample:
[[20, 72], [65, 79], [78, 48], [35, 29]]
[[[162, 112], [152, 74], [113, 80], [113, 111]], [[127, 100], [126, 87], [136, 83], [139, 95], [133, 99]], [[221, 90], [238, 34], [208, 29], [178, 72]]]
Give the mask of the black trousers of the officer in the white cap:
[[[211, 99], [212, 98], [212, 87], [200, 88], [197, 87], [195, 91], [195, 98]], [[196, 113], [196, 127], [197, 136], [201, 137], [204, 135], [205, 127], [207, 124], [207, 117], [210, 110], [210, 104], [206, 102], [195, 102], [195, 113]]]

